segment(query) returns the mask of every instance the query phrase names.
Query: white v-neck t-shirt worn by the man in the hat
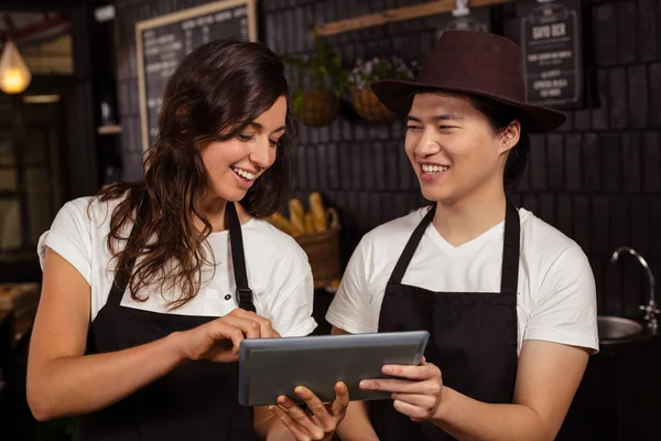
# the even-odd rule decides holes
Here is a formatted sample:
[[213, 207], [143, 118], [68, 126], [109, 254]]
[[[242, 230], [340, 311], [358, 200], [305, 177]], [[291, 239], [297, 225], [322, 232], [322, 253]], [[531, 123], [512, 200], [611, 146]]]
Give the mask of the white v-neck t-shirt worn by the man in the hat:
[[[411, 234], [426, 214], [420, 208], [383, 224], [360, 240], [326, 320], [350, 333], [376, 332], [386, 284]], [[523, 340], [543, 340], [598, 351], [594, 275], [581, 247], [521, 208], [517, 315], [518, 353]], [[498, 292], [505, 222], [454, 247], [430, 225], [402, 283], [432, 291]]]

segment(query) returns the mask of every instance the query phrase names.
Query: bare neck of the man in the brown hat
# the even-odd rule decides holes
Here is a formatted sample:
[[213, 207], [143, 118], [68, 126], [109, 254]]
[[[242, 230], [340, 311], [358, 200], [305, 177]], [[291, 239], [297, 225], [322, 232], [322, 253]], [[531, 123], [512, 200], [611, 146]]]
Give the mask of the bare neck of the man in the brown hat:
[[459, 201], [438, 201], [433, 225], [448, 244], [458, 247], [505, 219], [502, 185], [487, 185]]

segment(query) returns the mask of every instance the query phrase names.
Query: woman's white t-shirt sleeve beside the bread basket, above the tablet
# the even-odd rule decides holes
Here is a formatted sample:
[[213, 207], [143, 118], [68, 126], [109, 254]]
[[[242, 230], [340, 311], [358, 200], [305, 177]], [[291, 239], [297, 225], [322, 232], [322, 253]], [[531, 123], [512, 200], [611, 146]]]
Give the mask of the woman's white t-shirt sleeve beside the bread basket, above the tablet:
[[312, 316], [314, 309], [312, 269], [303, 249], [290, 251], [286, 258], [273, 269], [273, 275], [277, 279], [273, 288], [278, 295], [268, 316], [273, 329], [283, 337], [310, 335], [317, 323]]

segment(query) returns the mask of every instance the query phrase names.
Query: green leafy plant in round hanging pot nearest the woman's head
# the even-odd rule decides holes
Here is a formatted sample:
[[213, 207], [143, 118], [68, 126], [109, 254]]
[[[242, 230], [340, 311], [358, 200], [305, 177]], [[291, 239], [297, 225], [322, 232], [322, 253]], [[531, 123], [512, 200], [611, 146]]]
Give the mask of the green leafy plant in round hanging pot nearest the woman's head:
[[[314, 35], [314, 34], [313, 34]], [[304, 75], [303, 83], [293, 93], [294, 115], [306, 126], [318, 127], [332, 122], [339, 112], [339, 96], [347, 73], [329, 43], [314, 37], [314, 51], [308, 56], [281, 56], [293, 65], [296, 74]], [[296, 83], [301, 83], [296, 78]]]

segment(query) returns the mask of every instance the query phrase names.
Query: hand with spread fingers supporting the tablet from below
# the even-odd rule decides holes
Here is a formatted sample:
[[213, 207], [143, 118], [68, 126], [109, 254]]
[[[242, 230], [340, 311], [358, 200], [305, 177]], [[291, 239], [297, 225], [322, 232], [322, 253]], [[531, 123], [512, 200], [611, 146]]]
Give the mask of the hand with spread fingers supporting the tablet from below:
[[349, 390], [339, 381], [335, 385], [335, 401], [323, 404], [310, 389], [299, 386], [295, 390], [307, 405], [307, 411], [301, 409], [288, 397], [278, 398], [279, 406], [269, 409], [292, 432], [296, 441], [330, 440], [335, 428], [344, 419], [349, 405]]

